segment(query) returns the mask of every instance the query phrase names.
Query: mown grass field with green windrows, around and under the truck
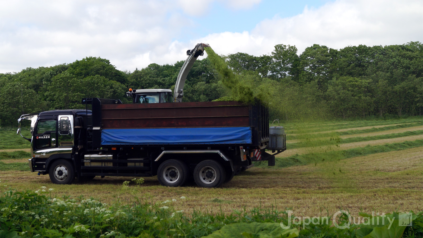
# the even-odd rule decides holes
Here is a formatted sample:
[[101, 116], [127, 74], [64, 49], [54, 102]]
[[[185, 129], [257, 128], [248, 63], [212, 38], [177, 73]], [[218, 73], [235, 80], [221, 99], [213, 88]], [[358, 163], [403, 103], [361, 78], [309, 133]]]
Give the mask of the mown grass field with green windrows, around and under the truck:
[[[242, 172], [220, 188], [159, 185], [156, 177], [128, 193], [129, 177], [96, 177], [88, 183], [54, 185], [48, 175], [28, 171], [29, 142], [15, 130], [1, 130], [0, 178], [3, 188], [19, 191], [40, 186], [59, 196], [85, 196], [121, 203], [140, 197], [174, 202], [176, 209], [232, 213], [255, 207], [291, 209], [302, 216], [322, 216], [339, 209], [392, 212], [423, 210], [423, 120], [288, 123], [288, 150]], [[25, 149], [25, 150], [24, 150]], [[13, 151], [16, 150], [16, 151]], [[25, 151], [25, 152], [23, 152]], [[328, 214], [329, 213], [329, 214]]]

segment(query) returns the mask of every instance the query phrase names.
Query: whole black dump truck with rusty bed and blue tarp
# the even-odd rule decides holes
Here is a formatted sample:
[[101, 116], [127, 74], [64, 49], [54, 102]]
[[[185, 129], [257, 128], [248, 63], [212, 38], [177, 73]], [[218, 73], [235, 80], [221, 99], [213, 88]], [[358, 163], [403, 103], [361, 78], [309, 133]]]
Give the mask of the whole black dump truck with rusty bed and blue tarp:
[[[285, 134], [269, 136], [269, 112], [260, 102], [122, 104], [84, 98], [86, 109], [22, 115], [31, 120], [31, 172], [52, 183], [95, 176], [149, 177], [165, 186], [195, 180], [217, 187], [253, 161], [275, 164]], [[270, 141], [269, 141], [270, 139]]]

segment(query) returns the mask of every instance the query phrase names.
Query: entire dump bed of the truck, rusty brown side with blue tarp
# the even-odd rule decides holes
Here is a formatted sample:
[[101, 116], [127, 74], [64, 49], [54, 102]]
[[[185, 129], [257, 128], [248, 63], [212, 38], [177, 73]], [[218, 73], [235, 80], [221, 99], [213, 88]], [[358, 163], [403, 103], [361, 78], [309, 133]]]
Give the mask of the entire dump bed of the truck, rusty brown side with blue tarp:
[[105, 102], [101, 99], [92, 102], [93, 125], [101, 129], [101, 134], [94, 134], [101, 136], [103, 146], [243, 144], [261, 147], [269, 141], [267, 108], [258, 102], [251, 105], [236, 101]]

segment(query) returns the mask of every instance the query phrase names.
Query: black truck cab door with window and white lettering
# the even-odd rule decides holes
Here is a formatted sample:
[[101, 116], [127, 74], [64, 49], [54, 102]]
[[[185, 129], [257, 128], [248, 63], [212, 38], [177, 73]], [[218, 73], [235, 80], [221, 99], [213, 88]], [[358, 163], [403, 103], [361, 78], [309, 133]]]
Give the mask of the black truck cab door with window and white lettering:
[[[33, 151], [35, 157], [48, 158], [57, 153], [57, 119], [38, 119], [33, 133]], [[51, 150], [52, 149], [52, 150]]]

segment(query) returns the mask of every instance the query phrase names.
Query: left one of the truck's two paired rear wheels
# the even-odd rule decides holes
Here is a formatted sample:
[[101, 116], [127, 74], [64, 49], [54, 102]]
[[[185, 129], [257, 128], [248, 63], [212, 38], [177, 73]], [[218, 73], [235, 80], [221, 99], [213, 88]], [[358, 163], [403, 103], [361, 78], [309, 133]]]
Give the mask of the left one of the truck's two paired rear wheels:
[[163, 162], [157, 169], [157, 179], [163, 186], [178, 187], [184, 185], [190, 176], [188, 166], [179, 160]]

